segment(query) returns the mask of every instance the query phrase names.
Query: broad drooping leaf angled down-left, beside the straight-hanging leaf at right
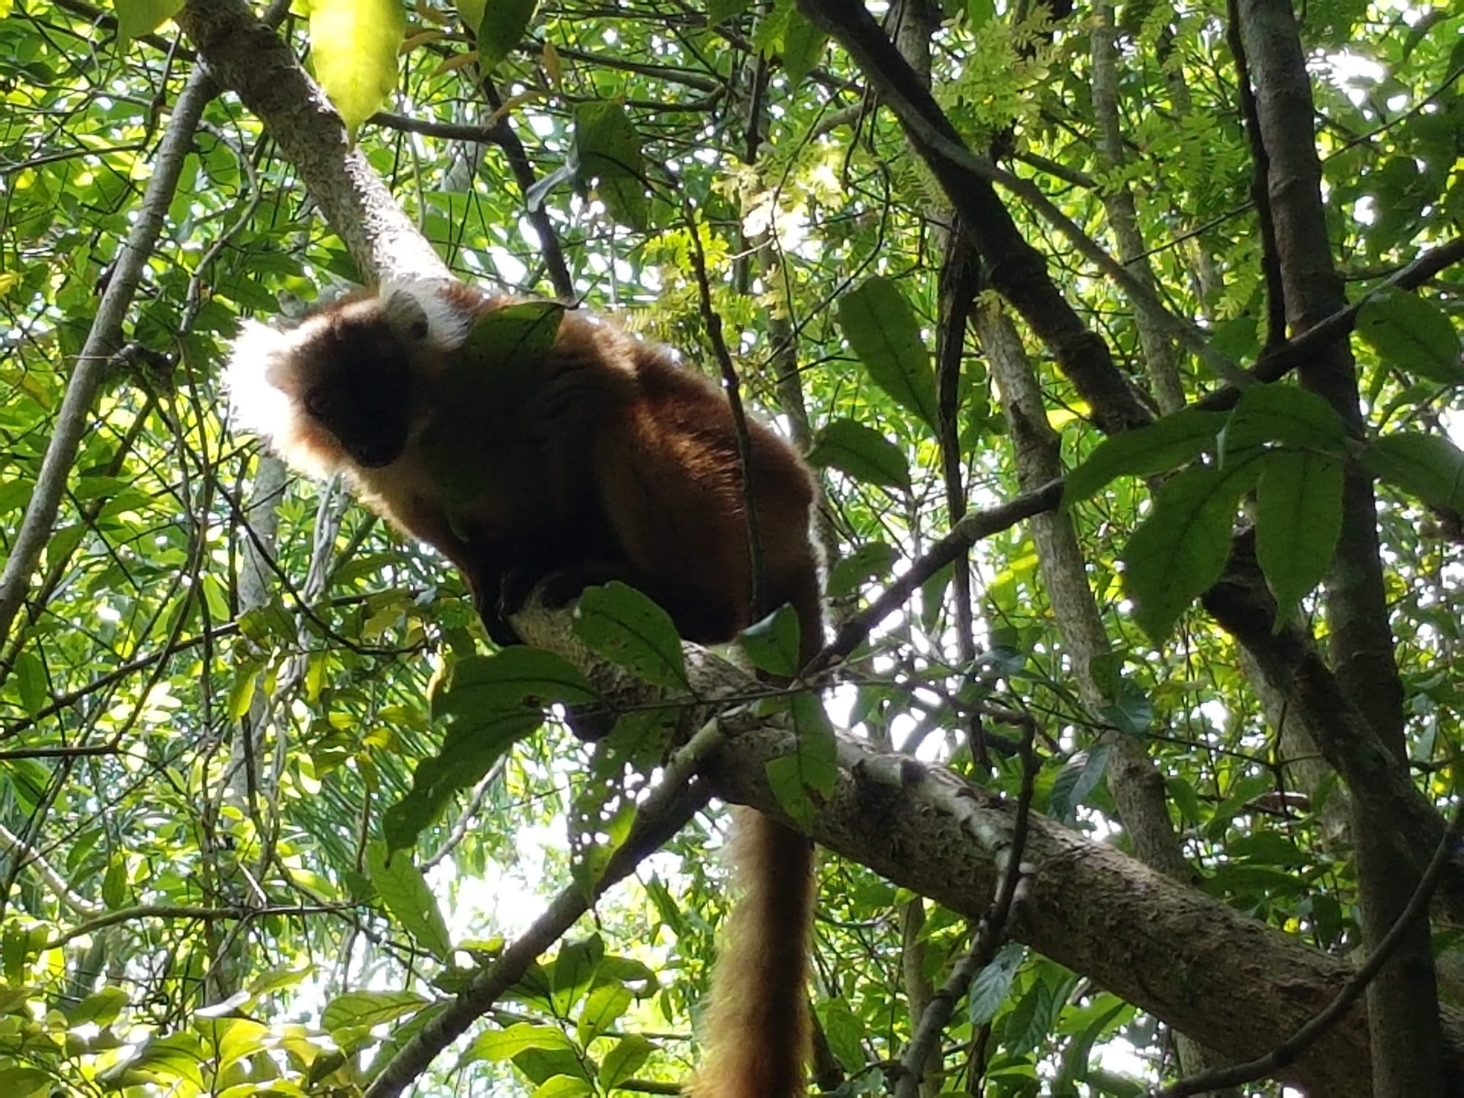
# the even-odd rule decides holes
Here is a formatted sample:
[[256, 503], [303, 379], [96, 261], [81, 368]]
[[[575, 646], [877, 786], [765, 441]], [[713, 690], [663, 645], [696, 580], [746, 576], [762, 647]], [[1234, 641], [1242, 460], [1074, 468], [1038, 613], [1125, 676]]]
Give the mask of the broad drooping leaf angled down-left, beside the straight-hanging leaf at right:
[[1225, 568], [1240, 496], [1255, 483], [1256, 463], [1199, 466], [1159, 489], [1154, 511], [1123, 548], [1123, 586], [1133, 618], [1155, 646], [1184, 609]]

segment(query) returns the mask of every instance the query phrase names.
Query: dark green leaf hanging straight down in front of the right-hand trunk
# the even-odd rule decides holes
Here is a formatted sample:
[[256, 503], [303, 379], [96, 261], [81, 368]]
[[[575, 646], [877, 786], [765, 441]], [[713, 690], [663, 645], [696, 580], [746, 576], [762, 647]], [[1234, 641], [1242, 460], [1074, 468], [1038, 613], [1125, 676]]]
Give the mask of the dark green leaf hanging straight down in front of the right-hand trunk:
[[1266, 454], [1256, 482], [1256, 559], [1277, 597], [1275, 630], [1322, 581], [1342, 533], [1342, 463], [1288, 449]]

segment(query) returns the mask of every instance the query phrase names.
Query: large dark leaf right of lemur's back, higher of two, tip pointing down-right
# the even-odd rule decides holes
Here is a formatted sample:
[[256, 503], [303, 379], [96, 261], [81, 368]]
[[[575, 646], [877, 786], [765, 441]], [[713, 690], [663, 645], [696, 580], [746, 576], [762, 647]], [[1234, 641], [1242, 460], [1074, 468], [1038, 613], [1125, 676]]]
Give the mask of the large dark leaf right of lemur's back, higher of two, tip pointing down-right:
[[874, 384], [935, 429], [935, 373], [915, 310], [889, 278], [875, 275], [839, 299], [839, 329]]

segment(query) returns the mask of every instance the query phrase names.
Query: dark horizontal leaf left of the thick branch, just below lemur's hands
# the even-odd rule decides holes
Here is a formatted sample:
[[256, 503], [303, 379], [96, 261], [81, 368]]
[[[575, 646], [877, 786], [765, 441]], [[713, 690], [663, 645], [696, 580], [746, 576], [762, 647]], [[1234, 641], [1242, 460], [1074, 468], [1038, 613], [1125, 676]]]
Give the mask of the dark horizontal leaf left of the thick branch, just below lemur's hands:
[[523, 706], [581, 706], [599, 701], [584, 673], [564, 656], [527, 644], [458, 660], [432, 695], [432, 716], [479, 720]]

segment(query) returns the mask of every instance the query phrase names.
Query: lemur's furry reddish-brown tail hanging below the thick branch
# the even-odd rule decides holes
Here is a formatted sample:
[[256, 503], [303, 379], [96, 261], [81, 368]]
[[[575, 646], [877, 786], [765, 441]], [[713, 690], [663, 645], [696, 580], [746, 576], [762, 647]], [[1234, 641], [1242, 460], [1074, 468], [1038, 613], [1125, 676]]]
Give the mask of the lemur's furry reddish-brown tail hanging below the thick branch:
[[741, 890], [701, 1019], [704, 1061], [688, 1098], [808, 1094], [808, 931], [814, 848], [751, 808], [733, 810]]

